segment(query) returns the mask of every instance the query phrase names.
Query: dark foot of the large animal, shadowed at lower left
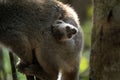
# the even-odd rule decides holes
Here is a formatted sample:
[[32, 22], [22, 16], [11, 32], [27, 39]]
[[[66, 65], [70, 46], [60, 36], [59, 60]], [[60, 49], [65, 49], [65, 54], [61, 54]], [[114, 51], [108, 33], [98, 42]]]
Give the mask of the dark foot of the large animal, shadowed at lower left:
[[40, 80], [48, 80], [50, 76], [42, 69], [38, 64], [25, 65], [20, 63], [18, 66], [18, 71], [29, 76], [36, 76]]

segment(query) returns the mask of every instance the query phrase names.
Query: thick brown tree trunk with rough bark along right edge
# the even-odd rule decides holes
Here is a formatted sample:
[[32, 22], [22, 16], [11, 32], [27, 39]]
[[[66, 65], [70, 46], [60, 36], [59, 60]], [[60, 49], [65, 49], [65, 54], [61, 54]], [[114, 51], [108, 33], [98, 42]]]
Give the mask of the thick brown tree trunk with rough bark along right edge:
[[120, 0], [94, 0], [90, 80], [120, 80]]

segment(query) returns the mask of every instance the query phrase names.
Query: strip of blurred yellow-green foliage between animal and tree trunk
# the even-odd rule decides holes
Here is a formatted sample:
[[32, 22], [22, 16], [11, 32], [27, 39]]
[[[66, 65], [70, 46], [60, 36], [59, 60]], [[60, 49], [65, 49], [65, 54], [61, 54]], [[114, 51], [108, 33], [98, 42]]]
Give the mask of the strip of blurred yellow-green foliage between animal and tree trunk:
[[84, 32], [84, 50], [80, 64], [80, 80], [89, 80], [89, 59], [91, 48], [91, 28], [92, 28], [92, 6], [88, 8], [88, 19], [82, 25]]

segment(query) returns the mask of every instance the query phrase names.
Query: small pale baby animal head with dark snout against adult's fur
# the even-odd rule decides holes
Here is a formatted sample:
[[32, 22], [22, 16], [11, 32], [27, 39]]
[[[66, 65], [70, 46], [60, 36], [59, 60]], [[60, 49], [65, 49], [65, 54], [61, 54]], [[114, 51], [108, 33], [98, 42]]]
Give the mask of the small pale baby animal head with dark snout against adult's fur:
[[75, 26], [66, 23], [63, 20], [56, 20], [52, 25], [52, 33], [54, 37], [60, 41], [71, 39], [77, 32], [78, 29]]

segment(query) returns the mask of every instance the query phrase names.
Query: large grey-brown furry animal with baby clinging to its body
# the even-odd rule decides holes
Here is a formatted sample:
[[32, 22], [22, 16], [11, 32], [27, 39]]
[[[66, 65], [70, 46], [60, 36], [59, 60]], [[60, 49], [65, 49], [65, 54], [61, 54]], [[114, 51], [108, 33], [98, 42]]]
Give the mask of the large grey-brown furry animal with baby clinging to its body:
[[76, 12], [57, 0], [1, 0], [0, 45], [20, 58], [20, 72], [39, 77], [27, 73], [34, 56], [49, 80], [59, 72], [61, 80], [79, 80], [82, 29]]

